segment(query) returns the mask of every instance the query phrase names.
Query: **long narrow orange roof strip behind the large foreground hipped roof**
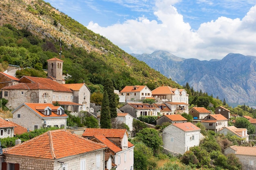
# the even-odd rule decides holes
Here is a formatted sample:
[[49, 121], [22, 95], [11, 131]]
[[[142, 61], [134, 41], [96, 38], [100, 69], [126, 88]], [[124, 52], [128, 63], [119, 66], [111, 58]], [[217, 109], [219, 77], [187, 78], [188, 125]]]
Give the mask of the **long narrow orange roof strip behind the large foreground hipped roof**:
[[95, 135], [104, 135], [105, 137], [118, 137], [123, 138], [124, 134], [128, 132], [126, 129], [99, 129], [99, 128], [86, 128], [83, 132], [83, 137], [93, 137]]

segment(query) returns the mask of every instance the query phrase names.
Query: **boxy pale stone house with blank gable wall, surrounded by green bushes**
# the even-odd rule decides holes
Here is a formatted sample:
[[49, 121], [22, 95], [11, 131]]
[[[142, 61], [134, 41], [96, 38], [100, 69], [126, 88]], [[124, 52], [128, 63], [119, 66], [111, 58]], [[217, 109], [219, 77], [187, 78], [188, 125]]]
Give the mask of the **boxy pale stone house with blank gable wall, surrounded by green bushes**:
[[189, 148], [199, 145], [200, 130], [190, 122], [171, 124], [163, 129], [163, 147], [183, 155]]

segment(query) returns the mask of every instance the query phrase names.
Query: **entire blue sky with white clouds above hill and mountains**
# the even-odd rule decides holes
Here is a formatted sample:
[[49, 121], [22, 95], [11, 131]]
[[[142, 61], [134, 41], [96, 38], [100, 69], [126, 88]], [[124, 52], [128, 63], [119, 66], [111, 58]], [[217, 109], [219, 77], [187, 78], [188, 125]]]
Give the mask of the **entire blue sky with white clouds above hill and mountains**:
[[45, 0], [127, 53], [256, 56], [256, 0]]

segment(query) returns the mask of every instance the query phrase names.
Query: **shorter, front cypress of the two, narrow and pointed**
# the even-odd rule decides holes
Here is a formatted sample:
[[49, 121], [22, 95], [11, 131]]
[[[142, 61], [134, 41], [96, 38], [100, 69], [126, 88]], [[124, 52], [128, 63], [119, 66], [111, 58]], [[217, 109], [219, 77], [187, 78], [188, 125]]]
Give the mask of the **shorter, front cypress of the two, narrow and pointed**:
[[109, 108], [107, 91], [104, 91], [103, 93], [100, 123], [101, 123], [101, 128], [106, 128], [106, 129], [111, 128], [111, 117], [110, 117], [110, 108]]

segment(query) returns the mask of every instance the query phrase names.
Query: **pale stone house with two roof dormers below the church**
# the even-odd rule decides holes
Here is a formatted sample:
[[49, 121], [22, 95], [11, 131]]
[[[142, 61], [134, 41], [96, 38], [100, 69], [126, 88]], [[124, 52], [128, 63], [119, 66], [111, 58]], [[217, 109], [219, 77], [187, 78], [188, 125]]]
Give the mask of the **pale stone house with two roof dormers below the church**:
[[29, 130], [41, 127], [60, 127], [66, 129], [68, 115], [61, 106], [49, 103], [23, 103], [13, 113], [13, 122], [29, 128]]

